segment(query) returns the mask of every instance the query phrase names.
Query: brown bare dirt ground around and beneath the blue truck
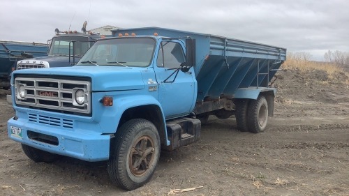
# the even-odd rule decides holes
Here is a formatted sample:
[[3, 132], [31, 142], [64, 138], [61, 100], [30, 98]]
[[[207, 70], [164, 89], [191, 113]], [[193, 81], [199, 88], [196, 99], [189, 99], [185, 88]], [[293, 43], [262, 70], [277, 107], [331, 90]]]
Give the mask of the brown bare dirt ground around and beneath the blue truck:
[[[349, 195], [348, 73], [277, 75], [264, 133], [239, 132], [234, 116], [210, 116], [199, 142], [162, 152], [151, 181], [130, 192], [110, 183], [105, 163], [29, 160], [8, 139], [14, 112], [1, 96], [0, 195]], [[170, 192], [186, 188], [196, 189]]]

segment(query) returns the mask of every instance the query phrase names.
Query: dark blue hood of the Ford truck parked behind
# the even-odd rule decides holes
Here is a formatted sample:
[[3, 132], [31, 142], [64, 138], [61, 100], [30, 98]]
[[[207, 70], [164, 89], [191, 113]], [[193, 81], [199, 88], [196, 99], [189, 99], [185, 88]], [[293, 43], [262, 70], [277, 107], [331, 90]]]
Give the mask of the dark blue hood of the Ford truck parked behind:
[[[75, 56], [75, 63], [81, 59], [81, 56]], [[73, 63], [73, 57], [70, 56], [70, 63], [69, 63], [69, 56], [40, 56], [33, 59], [24, 59], [20, 61], [20, 63], [25, 63], [26, 61], [30, 61], [32, 63], [33, 61], [36, 61], [36, 63], [39, 63], [40, 61], [45, 61], [49, 64], [50, 68], [55, 67], [68, 67], [73, 66], [70, 63]]]

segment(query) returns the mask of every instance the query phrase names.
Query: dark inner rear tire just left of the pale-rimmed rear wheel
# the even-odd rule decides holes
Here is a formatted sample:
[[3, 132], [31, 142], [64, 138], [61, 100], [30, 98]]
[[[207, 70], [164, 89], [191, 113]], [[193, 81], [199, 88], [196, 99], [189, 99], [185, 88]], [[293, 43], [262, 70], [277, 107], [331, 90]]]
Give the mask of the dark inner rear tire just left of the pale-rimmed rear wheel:
[[247, 126], [247, 110], [248, 110], [248, 99], [241, 99], [235, 101], [235, 119], [237, 119], [237, 129], [246, 132], [248, 131]]

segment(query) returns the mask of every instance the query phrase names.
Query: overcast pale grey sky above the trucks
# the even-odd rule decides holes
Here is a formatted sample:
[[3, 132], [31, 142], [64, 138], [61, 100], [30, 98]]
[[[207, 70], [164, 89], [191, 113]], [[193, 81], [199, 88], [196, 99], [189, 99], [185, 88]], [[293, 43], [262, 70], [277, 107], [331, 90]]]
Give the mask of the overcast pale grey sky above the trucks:
[[1, 0], [0, 40], [45, 43], [54, 29], [165, 27], [309, 52], [349, 52], [349, 1]]

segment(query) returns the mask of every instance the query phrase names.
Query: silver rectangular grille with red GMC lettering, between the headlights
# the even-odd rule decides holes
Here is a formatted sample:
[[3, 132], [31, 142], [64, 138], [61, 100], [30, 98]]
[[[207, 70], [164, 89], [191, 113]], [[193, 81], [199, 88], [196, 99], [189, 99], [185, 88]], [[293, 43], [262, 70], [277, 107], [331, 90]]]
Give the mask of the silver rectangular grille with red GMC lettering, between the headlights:
[[[19, 91], [24, 90], [24, 98]], [[75, 91], [84, 91], [85, 102], [79, 105], [75, 101]], [[91, 112], [91, 82], [60, 80], [56, 78], [17, 77], [15, 78], [15, 100], [17, 105], [55, 110], [56, 112]]]

